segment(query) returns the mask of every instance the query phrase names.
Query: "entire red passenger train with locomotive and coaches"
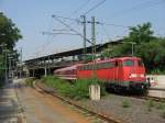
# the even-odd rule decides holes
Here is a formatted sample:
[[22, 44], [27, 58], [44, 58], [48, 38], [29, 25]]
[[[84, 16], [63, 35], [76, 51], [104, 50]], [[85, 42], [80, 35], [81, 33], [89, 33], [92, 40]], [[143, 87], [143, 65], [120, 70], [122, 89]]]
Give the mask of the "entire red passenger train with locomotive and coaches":
[[114, 90], [146, 91], [145, 67], [139, 57], [114, 57], [76, 64], [54, 70], [54, 75], [67, 80], [96, 77]]

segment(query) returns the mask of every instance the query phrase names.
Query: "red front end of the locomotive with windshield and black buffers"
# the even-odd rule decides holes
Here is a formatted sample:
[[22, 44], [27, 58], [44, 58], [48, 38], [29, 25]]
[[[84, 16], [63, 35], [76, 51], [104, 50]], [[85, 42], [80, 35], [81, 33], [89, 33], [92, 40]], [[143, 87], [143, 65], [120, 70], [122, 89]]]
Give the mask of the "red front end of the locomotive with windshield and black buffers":
[[147, 90], [145, 67], [141, 58], [132, 57], [123, 59], [123, 81], [129, 82], [129, 89]]

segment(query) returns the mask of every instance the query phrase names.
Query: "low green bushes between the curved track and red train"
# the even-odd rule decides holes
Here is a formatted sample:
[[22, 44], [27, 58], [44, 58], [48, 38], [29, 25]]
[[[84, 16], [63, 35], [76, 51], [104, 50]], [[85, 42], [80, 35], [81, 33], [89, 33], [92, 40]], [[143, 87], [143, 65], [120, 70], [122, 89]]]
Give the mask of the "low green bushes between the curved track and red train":
[[101, 96], [106, 94], [102, 83], [100, 83], [97, 79], [79, 79], [70, 83], [55, 76], [48, 76], [42, 78], [41, 81], [50, 87], [55, 88], [58, 93], [75, 100], [89, 98], [90, 85], [101, 85]]

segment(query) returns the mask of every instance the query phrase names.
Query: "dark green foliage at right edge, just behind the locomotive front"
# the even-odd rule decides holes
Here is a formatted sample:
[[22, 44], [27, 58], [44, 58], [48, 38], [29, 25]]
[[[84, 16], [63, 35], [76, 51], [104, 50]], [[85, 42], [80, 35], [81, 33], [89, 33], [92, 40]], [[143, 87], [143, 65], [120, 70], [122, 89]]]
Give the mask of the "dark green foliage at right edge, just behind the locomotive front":
[[165, 70], [165, 40], [157, 38], [136, 46], [136, 56], [144, 62], [148, 72], [161, 74]]

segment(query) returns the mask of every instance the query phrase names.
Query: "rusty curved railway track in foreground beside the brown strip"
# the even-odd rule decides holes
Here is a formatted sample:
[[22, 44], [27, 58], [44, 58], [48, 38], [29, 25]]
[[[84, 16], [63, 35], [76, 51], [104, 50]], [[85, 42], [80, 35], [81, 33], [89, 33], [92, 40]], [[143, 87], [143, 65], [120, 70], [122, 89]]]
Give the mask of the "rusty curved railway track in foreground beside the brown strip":
[[99, 112], [96, 112], [96, 111], [91, 111], [91, 110], [89, 110], [89, 109], [87, 109], [87, 108], [85, 108], [82, 105], [77, 104], [73, 100], [65, 99], [64, 97], [61, 97], [59, 94], [55, 93], [55, 91], [45, 89], [38, 82], [35, 82], [35, 86], [36, 86], [35, 88], [41, 89], [43, 92], [50, 93], [51, 96], [56, 97], [56, 98], [61, 99], [62, 101], [64, 101], [64, 102], [66, 102], [66, 103], [68, 103], [70, 105], [76, 107], [77, 109], [79, 109], [81, 111], [86, 111], [86, 112], [88, 112], [91, 115], [95, 115], [95, 116], [97, 116], [97, 118], [99, 118], [99, 119], [101, 119], [103, 121], [107, 121], [108, 123], [123, 123], [121, 120], [117, 120], [113, 116], [109, 116], [107, 114], [102, 114], [102, 113], [99, 113]]

